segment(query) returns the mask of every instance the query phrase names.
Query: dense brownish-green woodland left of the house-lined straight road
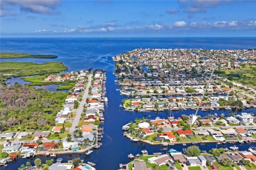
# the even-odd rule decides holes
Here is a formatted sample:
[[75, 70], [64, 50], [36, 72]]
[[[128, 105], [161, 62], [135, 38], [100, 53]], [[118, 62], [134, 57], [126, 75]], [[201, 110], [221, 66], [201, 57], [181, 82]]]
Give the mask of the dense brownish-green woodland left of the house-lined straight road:
[[[0, 85], [0, 132], [12, 130], [47, 130], [54, 125], [67, 94], [20, 84]], [[48, 114], [48, 113], [51, 114]]]

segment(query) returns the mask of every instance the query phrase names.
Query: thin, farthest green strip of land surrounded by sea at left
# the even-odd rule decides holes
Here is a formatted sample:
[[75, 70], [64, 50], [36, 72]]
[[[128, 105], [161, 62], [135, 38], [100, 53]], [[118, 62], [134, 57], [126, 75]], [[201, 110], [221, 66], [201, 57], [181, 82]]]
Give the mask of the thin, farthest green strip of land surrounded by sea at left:
[[57, 58], [57, 55], [31, 55], [25, 53], [0, 53], [0, 58]]

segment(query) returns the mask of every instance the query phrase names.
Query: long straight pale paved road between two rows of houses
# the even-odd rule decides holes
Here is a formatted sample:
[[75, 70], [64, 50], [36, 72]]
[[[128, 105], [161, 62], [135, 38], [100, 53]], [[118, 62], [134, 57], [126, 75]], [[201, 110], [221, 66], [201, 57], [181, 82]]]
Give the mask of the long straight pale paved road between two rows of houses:
[[78, 123], [80, 121], [81, 114], [82, 114], [83, 109], [84, 109], [84, 104], [86, 103], [86, 98], [89, 95], [89, 88], [91, 86], [91, 83], [92, 83], [92, 72], [89, 74], [88, 83], [87, 83], [86, 89], [84, 90], [83, 99], [81, 100], [81, 102], [79, 104], [79, 107], [78, 107], [77, 112], [76, 112], [76, 116], [75, 116], [75, 118], [72, 122], [71, 128], [69, 130], [69, 133], [72, 135], [72, 137], [74, 137], [74, 131], [76, 130], [76, 126], [78, 126]]

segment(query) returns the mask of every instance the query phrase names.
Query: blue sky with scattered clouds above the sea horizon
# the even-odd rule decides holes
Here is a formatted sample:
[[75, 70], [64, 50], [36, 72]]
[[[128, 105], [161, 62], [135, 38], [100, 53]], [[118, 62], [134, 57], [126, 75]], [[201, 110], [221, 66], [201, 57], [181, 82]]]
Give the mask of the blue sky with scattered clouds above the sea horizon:
[[256, 0], [1, 0], [1, 37], [255, 37]]

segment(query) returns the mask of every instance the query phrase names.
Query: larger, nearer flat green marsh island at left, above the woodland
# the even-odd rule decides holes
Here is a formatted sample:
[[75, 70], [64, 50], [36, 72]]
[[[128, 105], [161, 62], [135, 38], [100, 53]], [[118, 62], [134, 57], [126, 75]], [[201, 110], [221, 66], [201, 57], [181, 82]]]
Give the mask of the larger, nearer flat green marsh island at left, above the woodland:
[[25, 75], [43, 75], [47, 73], [57, 73], [67, 70], [68, 67], [61, 62], [47, 62], [43, 64], [30, 62], [2, 62], [0, 63], [0, 72], [4, 76], [25, 76]]

